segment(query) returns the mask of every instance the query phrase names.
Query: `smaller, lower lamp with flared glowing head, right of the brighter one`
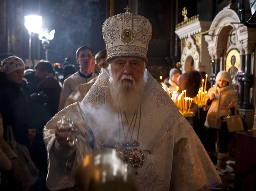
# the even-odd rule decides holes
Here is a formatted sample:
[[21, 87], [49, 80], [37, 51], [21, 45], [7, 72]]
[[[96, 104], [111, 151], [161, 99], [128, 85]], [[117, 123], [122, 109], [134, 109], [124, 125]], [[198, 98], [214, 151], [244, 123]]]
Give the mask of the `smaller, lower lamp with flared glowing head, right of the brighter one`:
[[38, 38], [41, 40], [42, 45], [45, 49], [45, 59], [48, 60], [50, 41], [54, 38], [55, 30], [49, 32], [48, 29], [41, 29]]

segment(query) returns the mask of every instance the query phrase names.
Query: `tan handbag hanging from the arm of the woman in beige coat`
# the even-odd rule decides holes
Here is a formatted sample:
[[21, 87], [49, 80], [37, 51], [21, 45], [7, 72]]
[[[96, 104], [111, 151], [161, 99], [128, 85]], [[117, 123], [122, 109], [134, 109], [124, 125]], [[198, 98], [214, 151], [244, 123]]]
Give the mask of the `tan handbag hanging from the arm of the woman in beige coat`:
[[229, 114], [227, 116], [221, 117], [222, 122], [227, 123], [227, 128], [229, 132], [236, 132], [236, 131], [244, 131], [244, 115], [230, 115], [230, 109]]

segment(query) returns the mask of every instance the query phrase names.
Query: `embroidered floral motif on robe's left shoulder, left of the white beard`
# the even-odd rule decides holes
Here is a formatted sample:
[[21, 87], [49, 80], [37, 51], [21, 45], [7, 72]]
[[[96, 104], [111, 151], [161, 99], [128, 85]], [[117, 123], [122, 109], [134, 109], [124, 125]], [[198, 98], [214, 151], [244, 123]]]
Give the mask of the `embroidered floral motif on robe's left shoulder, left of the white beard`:
[[90, 88], [88, 94], [84, 97], [84, 103], [93, 102], [99, 105], [105, 105], [106, 103], [106, 94], [109, 92], [108, 86], [97, 86], [94, 85]]

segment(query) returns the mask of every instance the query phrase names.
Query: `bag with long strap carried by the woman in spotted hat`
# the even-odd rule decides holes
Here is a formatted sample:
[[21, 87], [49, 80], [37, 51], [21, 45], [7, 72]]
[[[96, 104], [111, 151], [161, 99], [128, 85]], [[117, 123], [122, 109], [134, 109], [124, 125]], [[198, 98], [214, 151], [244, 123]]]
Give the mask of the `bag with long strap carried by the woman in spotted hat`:
[[38, 180], [39, 171], [31, 160], [28, 148], [15, 141], [13, 129], [10, 125], [7, 125], [7, 141], [17, 155], [17, 158], [12, 161], [12, 176], [15, 188], [28, 191]]

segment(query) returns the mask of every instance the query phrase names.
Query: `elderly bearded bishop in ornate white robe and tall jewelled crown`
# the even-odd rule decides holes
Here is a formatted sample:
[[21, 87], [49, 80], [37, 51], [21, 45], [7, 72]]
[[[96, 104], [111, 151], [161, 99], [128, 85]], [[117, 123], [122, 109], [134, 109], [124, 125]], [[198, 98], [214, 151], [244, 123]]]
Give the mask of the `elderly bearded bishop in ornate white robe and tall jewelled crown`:
[[[128, 31], [131, 39], [125, 40]], [[81, 103], [64, 108], [44, 128], [50, 190], [76, 182], [77, 148], [67, 142], [70, 129], [56, 127], [64, 116], [94, 151], [117, 149], [132, 168], [138, 191], [207, 191], [221, 183], [195, 131], [145, 69], [151, 33], [145, 17], [129, 12], [103, 24], [109, 67], [102, 68]]]

